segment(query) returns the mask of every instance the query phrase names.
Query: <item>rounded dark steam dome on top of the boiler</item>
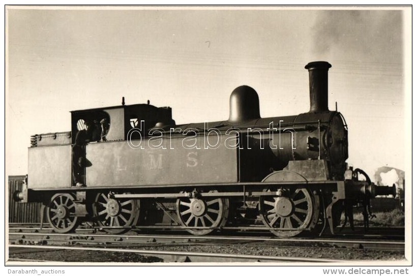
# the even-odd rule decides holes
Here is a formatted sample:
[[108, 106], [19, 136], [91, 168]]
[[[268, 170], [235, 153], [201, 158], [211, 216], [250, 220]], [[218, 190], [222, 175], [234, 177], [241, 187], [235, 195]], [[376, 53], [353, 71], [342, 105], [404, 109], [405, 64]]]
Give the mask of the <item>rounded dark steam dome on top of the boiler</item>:
[[229, 122], [259, 119], [259, 97], [255, 89], [242, 85], [230, 95]]

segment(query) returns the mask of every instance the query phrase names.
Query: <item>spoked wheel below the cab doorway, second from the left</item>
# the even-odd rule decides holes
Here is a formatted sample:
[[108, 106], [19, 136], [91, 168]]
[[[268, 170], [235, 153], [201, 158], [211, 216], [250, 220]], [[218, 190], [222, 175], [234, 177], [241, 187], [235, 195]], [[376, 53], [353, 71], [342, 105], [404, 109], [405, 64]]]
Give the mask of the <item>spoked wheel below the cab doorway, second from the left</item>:
[[139, 200], [109, 198], [106, 193], [98, 193], [93, 203], [93, 215], [107, 233], [125, 233], [139, 219]]

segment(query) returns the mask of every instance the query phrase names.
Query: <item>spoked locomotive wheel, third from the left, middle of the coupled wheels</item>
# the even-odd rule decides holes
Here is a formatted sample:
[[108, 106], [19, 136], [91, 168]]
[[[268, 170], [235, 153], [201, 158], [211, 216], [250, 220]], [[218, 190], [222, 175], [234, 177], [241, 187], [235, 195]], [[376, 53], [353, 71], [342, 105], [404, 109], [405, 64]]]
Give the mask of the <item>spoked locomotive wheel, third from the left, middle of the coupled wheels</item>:
[[[229, 214], [229, 200], [223, 198], [177, 199], [176, 213], [183, 226], [222, 227]], [[215, 229], [187, 229], [193, 235], [206, 235]]]

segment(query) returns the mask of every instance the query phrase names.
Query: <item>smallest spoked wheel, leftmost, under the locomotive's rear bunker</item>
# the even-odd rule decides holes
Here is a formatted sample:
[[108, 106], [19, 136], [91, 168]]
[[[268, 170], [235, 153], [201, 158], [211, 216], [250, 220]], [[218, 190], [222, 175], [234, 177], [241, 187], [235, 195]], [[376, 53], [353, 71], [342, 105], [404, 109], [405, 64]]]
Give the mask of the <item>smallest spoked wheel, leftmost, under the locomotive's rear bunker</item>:
[[49, 224], [59, 233], [73, 231], [78, 226], [75, 216], [75, 197], [71, 194], [54, 195], [46, 207], [46, 217]]

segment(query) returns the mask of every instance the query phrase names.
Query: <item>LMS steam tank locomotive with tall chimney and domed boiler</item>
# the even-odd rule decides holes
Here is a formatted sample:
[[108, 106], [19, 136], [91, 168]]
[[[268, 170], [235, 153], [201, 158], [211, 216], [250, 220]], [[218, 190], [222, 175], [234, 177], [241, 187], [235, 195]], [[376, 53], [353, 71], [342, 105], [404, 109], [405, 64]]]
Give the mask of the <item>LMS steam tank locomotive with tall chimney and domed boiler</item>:
[[[334, 233], [343, 212], [367, 210], [370, 198], [395, 196], [395, 187], [375, 186], [347, 166], [346, 121], [327, 107], [331, 65], [305, 68], [310, 111], [298, 115], [261, 118], [258, 95], [245, 85], [233, 90], [224, 121], [175, 125], [170, 107], [149, 103], [72, 111], [71, 132], [32, 136], [28, 176], [14, 198], [42, 202], [43, 216], [62, 233], [83, 221], [116, 234]], [[82, 147], [85, 187], [76, 187], [72, 145], [87, 122], [97, 121], [107, 127]]]

